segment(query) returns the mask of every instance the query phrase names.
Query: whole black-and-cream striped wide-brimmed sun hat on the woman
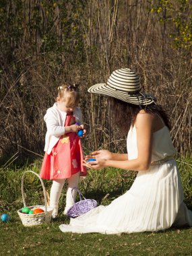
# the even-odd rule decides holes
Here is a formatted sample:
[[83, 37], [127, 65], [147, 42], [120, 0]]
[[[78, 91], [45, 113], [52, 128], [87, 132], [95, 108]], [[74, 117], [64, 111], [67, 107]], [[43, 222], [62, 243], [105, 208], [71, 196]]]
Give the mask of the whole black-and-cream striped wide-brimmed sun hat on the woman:
[[104, 94], [136, 105], [152, 104], [152, 95], [140, 92], [139, 76], [131, 69], [117, 69], [108, 78], [106, 84], [95, 84], [88, 89], [93, 94]]

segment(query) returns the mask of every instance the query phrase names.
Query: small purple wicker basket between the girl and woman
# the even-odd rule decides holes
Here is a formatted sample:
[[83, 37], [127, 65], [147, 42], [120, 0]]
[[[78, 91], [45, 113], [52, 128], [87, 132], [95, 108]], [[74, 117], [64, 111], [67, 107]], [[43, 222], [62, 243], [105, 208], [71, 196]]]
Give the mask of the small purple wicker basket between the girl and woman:
[[[67, 216], [71, 218], [76, 218], [78, 216], [81, 216], [82, 214], [86, 214], [86, 212], [89, 212], [92, 210], [94, 207], [97, 206], [97, 202], [94, 199], [86, 199], [82, 193], [77, 189], [77, 187], [73, 187], [73, 189], [76, 189], [77, 192], [79, 193], [79, 198], [80, 201], [75, 203], [73, 199], [73, 206], [69, 208], [67, 211]], [[71, 196], [73, 198], [73, 189], [71, 190]], [[83, 199], [82, 199], [83, 198]]]

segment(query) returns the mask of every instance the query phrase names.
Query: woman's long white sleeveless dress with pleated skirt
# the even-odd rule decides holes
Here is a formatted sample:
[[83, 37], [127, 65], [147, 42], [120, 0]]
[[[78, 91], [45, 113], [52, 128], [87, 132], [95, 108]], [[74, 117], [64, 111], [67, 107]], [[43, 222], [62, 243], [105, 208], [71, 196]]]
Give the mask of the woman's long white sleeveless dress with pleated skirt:
[[[137, 158], [135, 126], [127, 136], [129, 160]], [[172, 156], [168, 128], [153, 134], [152, 162]], [[112, 201], [59, 226], [63, 232], [120, 234], [121, 232], [158, 231], [176, 226], [192, 226], [192, 212], [183, 203], [181, 177], [174, 159], [159, 162], [149, 170], [139, 171], [131, 188]]]

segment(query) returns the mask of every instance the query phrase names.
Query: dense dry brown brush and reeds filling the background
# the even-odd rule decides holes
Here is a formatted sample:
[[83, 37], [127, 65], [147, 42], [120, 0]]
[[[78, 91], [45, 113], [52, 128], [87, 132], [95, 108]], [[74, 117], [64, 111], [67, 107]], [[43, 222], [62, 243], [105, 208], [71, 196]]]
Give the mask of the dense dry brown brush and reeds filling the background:
[[86, 154], [124, 152], [107, 98], [87, 93], [122, 67], [139, 73], [170, 115], [174, 146], [191, 156], [191, 9], [187, 0], [1, 0], [1, 158], [43, 155], [43, 117], [64, 81], [82, 91]]

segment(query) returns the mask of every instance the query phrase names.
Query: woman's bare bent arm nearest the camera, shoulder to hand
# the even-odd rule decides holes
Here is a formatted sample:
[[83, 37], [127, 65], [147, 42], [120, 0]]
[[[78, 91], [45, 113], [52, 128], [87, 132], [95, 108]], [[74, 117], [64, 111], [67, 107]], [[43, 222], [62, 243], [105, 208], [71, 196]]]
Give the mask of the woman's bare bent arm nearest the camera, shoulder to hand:
[[104, 159], [97, 158], [95, 162], [89, 162], [92, 168], [115, 167], [125, 170], [148, 170], [152, 158], [152, 133], [154, 129], [154, 116], [141, 111], [135, 121], [137, 131], [137, 158], [134, 160], [125, 160], [115, 155], [115, 158]]

